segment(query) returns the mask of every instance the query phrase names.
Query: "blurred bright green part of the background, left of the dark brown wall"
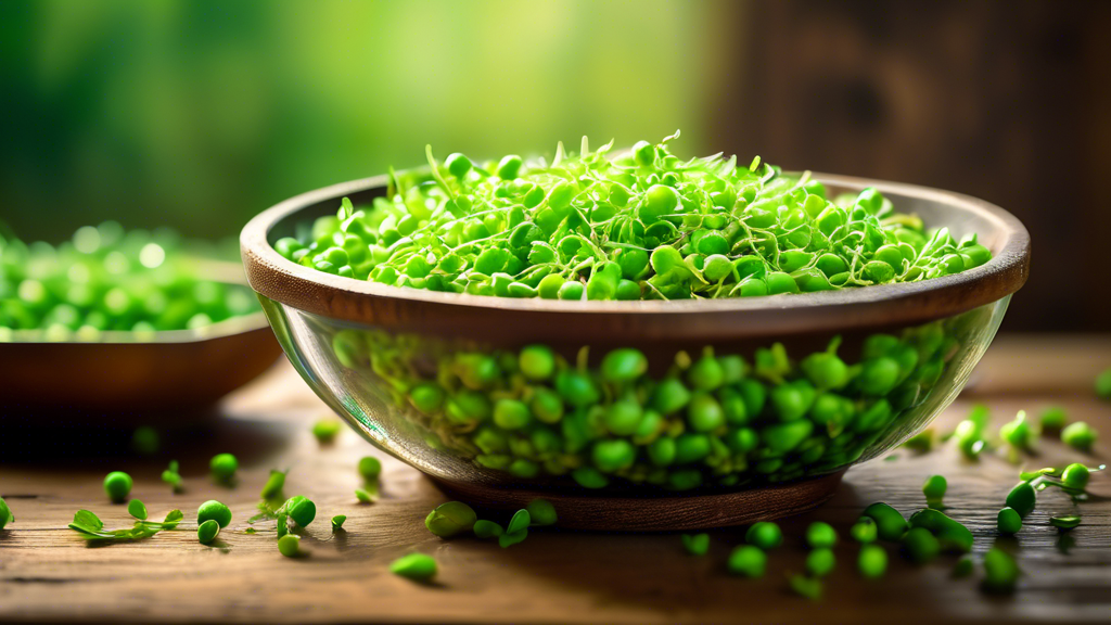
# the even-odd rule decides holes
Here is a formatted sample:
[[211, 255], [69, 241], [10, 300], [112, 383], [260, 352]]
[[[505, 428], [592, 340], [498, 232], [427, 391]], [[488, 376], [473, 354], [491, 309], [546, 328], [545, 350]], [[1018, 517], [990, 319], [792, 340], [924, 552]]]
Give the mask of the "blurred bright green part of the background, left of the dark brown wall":
[[704, 2], [0, 2], [0, 218], [237, 235], [387, 167], [683, 131], [715, 80]]

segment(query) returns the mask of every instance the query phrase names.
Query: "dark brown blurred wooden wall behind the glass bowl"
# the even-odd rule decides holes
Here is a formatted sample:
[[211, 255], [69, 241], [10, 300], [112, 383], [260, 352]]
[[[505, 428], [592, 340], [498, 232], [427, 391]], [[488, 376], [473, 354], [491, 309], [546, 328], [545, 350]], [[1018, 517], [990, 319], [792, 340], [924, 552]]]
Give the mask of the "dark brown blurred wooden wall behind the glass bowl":
[[993, 201], [1031, 231], [1010, 330], [1111, 330], [1111, 2], [764, 0], [720, 149]]

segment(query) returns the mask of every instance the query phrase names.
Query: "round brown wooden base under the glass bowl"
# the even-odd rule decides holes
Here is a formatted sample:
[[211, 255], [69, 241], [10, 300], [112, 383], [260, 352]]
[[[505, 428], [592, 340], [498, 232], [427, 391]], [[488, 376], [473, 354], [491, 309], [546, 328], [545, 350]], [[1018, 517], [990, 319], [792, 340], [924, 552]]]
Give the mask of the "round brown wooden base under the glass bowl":
[[513, 512], [533, 499], [548, 499], [559, 514], [559, 526], [567, 529], [672, 532], [748, 525], [803, 513], [829, 500], [842, 476], [844, 469], [737, 493], [665, 497], [568, 495], [430, 479], [449, 497], [478, 508]]

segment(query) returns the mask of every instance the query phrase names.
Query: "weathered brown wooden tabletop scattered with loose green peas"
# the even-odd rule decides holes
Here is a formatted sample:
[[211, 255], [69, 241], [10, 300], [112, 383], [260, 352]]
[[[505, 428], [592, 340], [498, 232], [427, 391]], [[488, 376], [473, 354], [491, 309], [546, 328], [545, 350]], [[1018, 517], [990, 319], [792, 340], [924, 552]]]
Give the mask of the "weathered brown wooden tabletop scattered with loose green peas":
[[[1111, 405], [1092, 397], [1095, 371], [1111, 365], [1111, 337], [1004, 337], [978, 370], [974, 388], [939, 418], [948, 429], [970, 401], [985, 401], [998, 426], [1019, 408], [1037, 411], [1048, 403], [1067, 407], [1102, 435], [1095, 457], [1105, 462], [1111, 440]], [[1111, 619], [1111, 476], [1093, 477], [1103, 498], [1081, 506], [1083, 525], [1060, 534], [1050, 513], [1073, 512], [1059, 492], [1044, 494], [1014, 538], [995, 533], [995, 513], [1017, 482], [1018, 468], [999, 457], [964, 464], [952, 448], [915, 456], [904, 449], [853, 468], [837, 496], [822, 508], [783, 523], [788, 540], [772, 554], [763, 579], [730, 577], [724, 560], [741, 543], [742, 528], [711, 533], [707, 557], [682, 552], [669, 534], [534, 532], [508, 548], [474, 538], [441, 540], [423, 517], [443, 500], [416, 470], [372, 450], [351, 431], [321, 448], [309, 425], [327, 409], [282, 363], [262, 379], [229, 397], [222, 416], [206, 427], [182, 428], [156, 457], [104, 457], [90, 447], [111, 448], [99, 434], [67, 435], [60, 424], [38, 429], [7, 428], [0, 493], [16, 523], [0, 532], [0, 621], [236, 621], [314, 623], [338, 621], [496, 622], [1081, 622]], [[91, 443], [90, 443], [91, 442]], [[1080, 459], [1045, 442], [1031, 465]], [[238, 487], [211, 484], [207, 460], [236, 453], [243, 465]], [[356, 462], [373, 454], [384, 460], [384, 497], [359, 505]], [[12, 459], [14, 458], [14, 459]], [[182, 463], [186, 493], [171, 495], [159, 482], [170, 458]], [[260, 486], [272, 467], [290, 469], [288, 494], [318, 504], [318, 520], [302, 545], [311, 555], [281, 557], [271, 525], [249, 535]], [[123, 506], [109, 504], [101, 479], [111, 469], [136, 478], [133, 496], [152, 516], [217, 498], [234, 513], [230, 530], [214, 546], [194, 532], [167, 532], [134, 544], [87, 546], [66, 526], [79, 508], [123, 526]], [[802, 530], [824, 519], [842, 535], [860, 510], [885, 500], [900, 510], [923, 506], [922, 482], [949, 478], [948, 510], [975, 535], [975, 554], [1000, 545], [1018, 554], [1025, 575], [1010, 597], [989, 597], [973, 578], [952, 579], [952, 557], [914, 567], [889, 547], [891, 565], [879, 581], [855, 573], [857, 546], [842, 540], [838, 571], [818, 603], [792, 596], [785, 572], [802, 568]], [[328, 519], [347, 514], [346, 532], [331, 535]], [[411, 550], [440, 563], [438, 583], [413, 584], [391, 575], [389, 563]]]

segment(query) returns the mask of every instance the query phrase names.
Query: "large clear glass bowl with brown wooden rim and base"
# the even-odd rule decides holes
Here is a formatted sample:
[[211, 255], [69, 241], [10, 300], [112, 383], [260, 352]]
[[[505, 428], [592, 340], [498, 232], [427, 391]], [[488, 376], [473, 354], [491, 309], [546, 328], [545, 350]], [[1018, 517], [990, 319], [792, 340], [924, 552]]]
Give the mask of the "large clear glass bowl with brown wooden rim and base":
[[848, 467], [923, 429], [963, 388], [1029, 271], [1029, 235], [999, 207], [814, 178], [834, 194], [875, 187], [928, 226], [977, 232], [994, 256], [911, 284], [569, 302], [402, 289], [273, 249], [342, 197], [384, 195], [384, 178], [287, 200], [247, 225], [241, 247], [309, 386], [450, 494], [494, 508], [543, 496], [565, 527], [722, 526], [815, 506]]

